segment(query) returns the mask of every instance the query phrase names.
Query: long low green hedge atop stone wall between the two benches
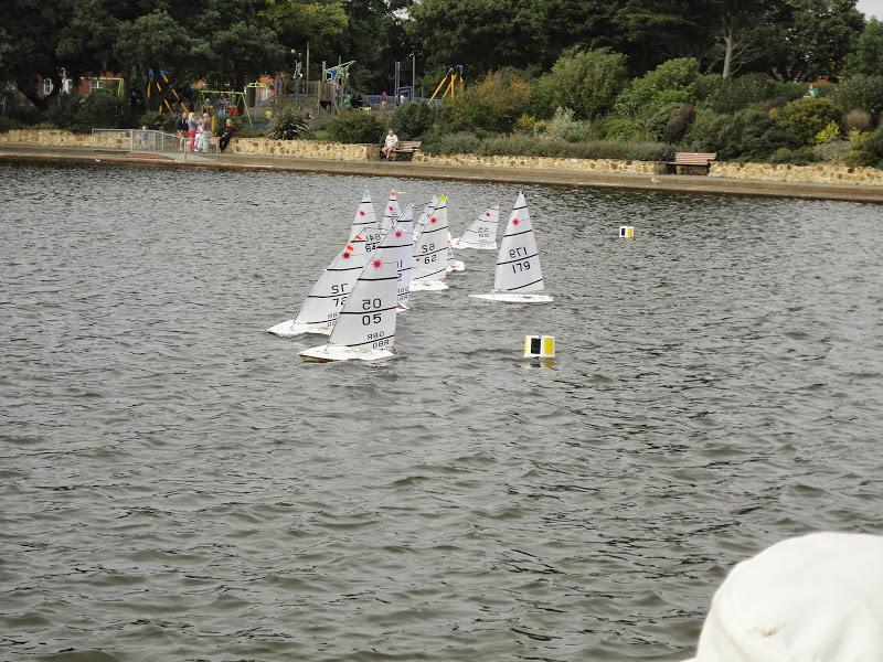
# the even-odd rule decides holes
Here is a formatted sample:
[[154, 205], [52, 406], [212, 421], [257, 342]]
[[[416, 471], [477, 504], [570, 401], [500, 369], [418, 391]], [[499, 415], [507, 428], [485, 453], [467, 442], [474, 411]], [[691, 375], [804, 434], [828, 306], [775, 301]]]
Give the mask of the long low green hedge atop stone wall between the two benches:
[[661, 161], [674, 154], [674, 147], [651, 141], [620, 142], [594, 140], [567, 142], [546, 138], [511, 134], [480, 139], [471, 134], [436, 135], [425, 140], [424, 151], [429, 153], [475, 153], [482, 156], [558, 157], [571, 159], [620, 159], [627, 161]]

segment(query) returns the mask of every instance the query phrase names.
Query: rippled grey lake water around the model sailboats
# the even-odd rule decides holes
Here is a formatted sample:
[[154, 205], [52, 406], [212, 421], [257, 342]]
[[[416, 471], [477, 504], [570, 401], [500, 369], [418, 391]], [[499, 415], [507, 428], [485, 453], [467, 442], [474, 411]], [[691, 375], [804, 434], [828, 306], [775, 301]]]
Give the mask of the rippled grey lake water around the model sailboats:
[[679, 660], [737, 560], [881, 533], [880, 206], [524, 186], [554, 303], [461, 252], [396, 359], [302, 363], [393, 185], [518, 192], [0, 166], [0, 658]]

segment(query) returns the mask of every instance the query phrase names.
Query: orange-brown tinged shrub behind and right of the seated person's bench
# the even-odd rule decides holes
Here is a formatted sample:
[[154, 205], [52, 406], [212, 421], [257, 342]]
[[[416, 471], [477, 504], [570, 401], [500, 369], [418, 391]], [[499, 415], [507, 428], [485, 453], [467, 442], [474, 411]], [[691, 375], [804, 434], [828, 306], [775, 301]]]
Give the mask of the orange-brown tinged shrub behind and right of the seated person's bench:
[[521, 76], [508, 70], [493, 72], [447, 102], [438, 124], [450, 131], [509, 132], [529, 110], [530, 96], [530, 87]]

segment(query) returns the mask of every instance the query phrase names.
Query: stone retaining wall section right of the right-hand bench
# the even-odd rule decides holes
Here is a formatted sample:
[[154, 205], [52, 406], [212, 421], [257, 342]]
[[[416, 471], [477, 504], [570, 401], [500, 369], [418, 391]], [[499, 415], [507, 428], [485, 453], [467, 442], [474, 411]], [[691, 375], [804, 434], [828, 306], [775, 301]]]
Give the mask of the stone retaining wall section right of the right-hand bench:
[[883, 170], [877, 170], [876, 168], [850, 168], [849, 166], [839, 163], [789, 166], [785, 163], [732, 163], [722, 161], [712, 163], [709, 174], [711, 177], [728, 179], [752, 179], [774, 182], [883, 185]]

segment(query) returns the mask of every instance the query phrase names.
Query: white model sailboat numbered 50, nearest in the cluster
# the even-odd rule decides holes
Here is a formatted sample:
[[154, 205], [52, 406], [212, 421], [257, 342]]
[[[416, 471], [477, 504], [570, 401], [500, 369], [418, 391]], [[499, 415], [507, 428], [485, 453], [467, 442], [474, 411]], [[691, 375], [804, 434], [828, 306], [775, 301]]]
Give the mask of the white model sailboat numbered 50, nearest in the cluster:
[[413, 246], [413, 212], [386, 233], [369, 258], [340, 310], [328, 343], [300, 352], [305, 361], [376, 361], [393, 355], [400, 288], [400, 265]]

